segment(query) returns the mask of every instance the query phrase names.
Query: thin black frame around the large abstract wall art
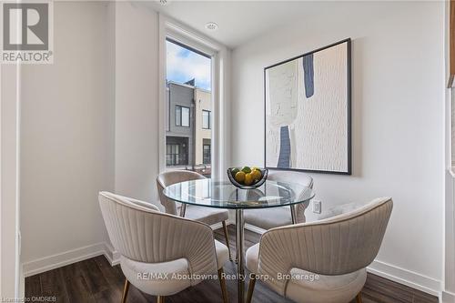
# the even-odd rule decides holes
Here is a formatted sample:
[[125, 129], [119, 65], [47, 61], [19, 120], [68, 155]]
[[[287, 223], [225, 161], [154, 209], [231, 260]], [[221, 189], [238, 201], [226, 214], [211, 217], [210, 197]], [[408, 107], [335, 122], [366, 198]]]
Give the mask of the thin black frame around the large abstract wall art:
[[[347, 159], [347, 170], [346, 171], [330, 171], [330, 170], [315, 170], [315, 169], [302, 169], [302, 168], [282, 168], [282, 167], [268, 167], [267, 166], [267, 89], [266, 89], [266, 75], [267, 75], [267, 70], [268, 68], [272, 68], [275, 66], [279, 66], [285, 63], [288, 63], [289, 61], [296, 60], [298, 58], [301, 58], [303, 56], [308, 56], [314, 53], [318, 53], [319, 51], [325, 50], [327, 48], [336, 46], [336, 45], [341, 45], [341, 44], [347, 44], [347, 119], [348, 119], [348, 159]], [[289, 58], [287, 60], [278, 62], [274, 65], [264, 67], [264, 167], [268, 168], [269, 170], [289, 170], [289, 171], [299, 171], [299, 172], [308, 172], [308, 173], [320, 173], [320, 174], [333, 174], [333, 175], [352, 175], [352, 136], [351, 136], [351, 128], [352, 128], [352, 121], [351, 121], [351, 107], [352, 107], [352, 101], [351, 101], [351, 96], [352, 96], [352, 88], [351, 88], [351, 39], [346, 38], [343, 40], [340, 40], [336, 43], [326, 45], [323, 47], [319, 47], [318, 49], [315, 49], [313, 51], [310, 51], [308, 53], [299, 55], [299, 56], [294, 56], [292, 58]]]

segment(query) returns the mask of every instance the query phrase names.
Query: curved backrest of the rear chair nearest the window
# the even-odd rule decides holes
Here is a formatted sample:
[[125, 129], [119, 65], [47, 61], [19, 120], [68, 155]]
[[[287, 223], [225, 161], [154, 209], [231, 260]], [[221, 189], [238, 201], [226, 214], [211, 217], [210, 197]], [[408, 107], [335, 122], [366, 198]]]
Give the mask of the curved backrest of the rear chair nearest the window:
[[168, 199], [163, 194], [163, 190], [166, 187], [176, 184], [178, 182], [205, 178], [206, 177], [189, 170], [173, 170], [159, 174], [157, 177], [157, 189], [159, 194], [159, 200], [161, 204], [165, 207], [167, 214], [178, 215], [176, 201]]

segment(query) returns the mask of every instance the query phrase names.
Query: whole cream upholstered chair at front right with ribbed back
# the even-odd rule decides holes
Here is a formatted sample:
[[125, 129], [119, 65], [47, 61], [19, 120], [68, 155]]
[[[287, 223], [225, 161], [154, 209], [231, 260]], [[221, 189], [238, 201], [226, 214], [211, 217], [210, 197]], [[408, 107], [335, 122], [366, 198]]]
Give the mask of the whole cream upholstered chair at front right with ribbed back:
[[366, 267], [378, 254], [392, 207], [391, 198], [377, 198], [336, 217], [268, 230], [247, 251], [247, 268], [257, 274], [247, 301], [259, 278], [296, 302], [361, 302]]

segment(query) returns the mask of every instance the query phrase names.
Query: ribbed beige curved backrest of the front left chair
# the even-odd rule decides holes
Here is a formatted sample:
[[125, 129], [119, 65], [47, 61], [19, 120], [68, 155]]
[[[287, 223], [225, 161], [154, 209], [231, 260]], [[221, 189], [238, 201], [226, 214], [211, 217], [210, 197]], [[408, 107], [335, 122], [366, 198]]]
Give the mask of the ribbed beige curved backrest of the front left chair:
[[144, 263], [186, 258], [191, 274], [217, 272], [213, 231], [206, 224], [108, 192], [98, 199], [112, 245], [123, 257]]

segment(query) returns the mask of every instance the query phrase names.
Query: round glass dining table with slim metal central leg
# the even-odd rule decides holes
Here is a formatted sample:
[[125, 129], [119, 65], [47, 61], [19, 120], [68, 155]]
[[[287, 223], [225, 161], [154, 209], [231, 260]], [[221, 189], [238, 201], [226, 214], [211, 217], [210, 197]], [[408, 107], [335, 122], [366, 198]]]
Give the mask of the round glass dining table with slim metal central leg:
[[215, 181], [210, 178], [180, 182], [166, 187], [164, 195], [182, 203], [180, 216], [185, 217], [187, 205], [216, 207], [236, 210], [236, 242], [238, 258], [238, 302], [245, 299], [245, 251], [244, 218], [245, 209], [285, 207], [290, 209], [292, 223], [297, 223], [295, 206], [308, 202], [314, 191], [306, 186], [266, 180], [255, 189], [240, 189], [228, 181]]

